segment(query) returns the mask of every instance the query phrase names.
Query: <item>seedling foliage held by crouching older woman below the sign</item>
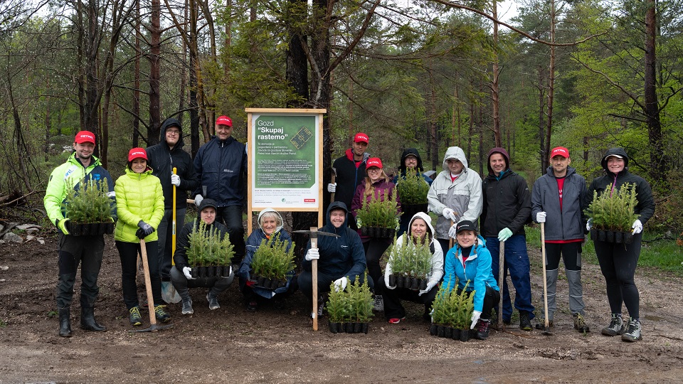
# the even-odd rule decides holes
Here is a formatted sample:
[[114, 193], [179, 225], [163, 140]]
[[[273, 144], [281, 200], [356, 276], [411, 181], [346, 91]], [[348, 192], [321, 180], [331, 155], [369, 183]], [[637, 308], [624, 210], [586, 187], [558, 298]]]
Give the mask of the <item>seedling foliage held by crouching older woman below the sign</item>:
[[292, 242], [287, 251], [289, 242], [280, 240], [280, 233], [263, 239], [254, 252], [251, 260], [251, 269], [254, 276], [268, 277], [268, 279], [287, 279], [287, 273], [296, 268], [294, 262], [295, 244]]

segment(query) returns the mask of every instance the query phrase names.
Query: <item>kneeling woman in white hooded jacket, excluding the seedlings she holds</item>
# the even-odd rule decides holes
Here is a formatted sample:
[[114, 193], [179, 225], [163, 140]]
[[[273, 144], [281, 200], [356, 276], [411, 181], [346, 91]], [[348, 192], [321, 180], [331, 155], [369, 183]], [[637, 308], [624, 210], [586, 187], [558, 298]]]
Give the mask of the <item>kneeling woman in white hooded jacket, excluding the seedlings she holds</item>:
[[386, 262], [384, 270], [384, 287], [386, 289], [383, 291], [383, 299], [384, 316], [390, 324], [398, 324], [401, 320], [406, 319], [406, 309], [403, 309], [401, 300], [423, 304], [425, 306], [425, 316], [428, 317], [434, 298], [439, 290], [437, 286], [443, 277], [443, 250], [441, 250], [441, 245], [434, 238], [432, 219], [427, 213], [418, 212], [413, 215], [408, 226], [408, 233], [404, 233], [396, 239], [395, 247], [403, 247], [403, 244], [406, 242], [412, 242], [413, 245], [428, 245], [432, 254], [432, 270], [427, 275], [428, 281], [425, 289], [413, 291], [410, 288], [391, 287], [389, 276], [393, 273], [393, 259], [391, 254], [389, 255], [389, 260]]

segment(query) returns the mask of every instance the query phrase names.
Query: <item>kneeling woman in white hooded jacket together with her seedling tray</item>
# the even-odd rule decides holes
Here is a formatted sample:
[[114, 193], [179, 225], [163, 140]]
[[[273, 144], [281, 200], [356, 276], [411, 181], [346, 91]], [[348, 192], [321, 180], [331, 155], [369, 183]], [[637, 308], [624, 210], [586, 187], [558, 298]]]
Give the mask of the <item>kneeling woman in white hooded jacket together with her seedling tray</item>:
[[[401, 300], [424, 304], [425, 316], [443, 277], [443, 250], [434, 238], [432, 219], [423, 212], [413, 215], [408, 233], [396, 239], [384, 270], [384, 316], [391, 324], [406, 319]], [[406, 284], [407, 283], [407, 284]]]

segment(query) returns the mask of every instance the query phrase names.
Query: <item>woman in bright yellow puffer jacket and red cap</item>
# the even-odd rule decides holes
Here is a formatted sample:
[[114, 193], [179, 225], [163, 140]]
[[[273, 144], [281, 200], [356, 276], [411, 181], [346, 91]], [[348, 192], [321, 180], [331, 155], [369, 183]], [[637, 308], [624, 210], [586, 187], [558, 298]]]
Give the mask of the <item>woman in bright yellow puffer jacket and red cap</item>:
[[117, 212], [120, 213], [114, 240], [121, 257], [123, 301], [129, 312], [130, 324], [142, 325], [135, 282], [140, 239], [144, 239], [147, 250], [154, 313], [157, 315], [157, 321], [166, 323], [171, 320], [171, 316], [166, 313], [165, 306], [160, 305], [162, 280], [159, 277], [156, 233], [156, 228], [164, 216], [164, 192], [161, 181], [157, 176], [152, 176], [152, 169], [147, 166], [147, 151], [133, 148], [128, 152], [126, 174], [117, 179], [114, 190], [117, 195]]

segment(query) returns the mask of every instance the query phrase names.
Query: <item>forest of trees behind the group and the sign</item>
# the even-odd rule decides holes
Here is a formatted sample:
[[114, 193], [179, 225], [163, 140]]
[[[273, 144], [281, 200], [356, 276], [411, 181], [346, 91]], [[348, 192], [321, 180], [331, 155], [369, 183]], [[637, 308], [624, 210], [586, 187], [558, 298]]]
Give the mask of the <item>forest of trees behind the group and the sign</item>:
[[[134, 146], [183, 124], [193, 156], [245, 107], [324, 108], [324, 184], [356, 132], [388, 169], [448, 146], [487, 173], [504, 146], [529, 186], [566, 146], [591, 181], [605, 150], [655, 191], [647, 230], [683, 230], [683, 0], [4, 0], [0, 2], [0, 218], [44, 220], [51, 170], [97, 135], [113, 177]], [[326, 205], [329, 203], [326, 195]], [[307, 213], [293, 226], [307, 228]]]

